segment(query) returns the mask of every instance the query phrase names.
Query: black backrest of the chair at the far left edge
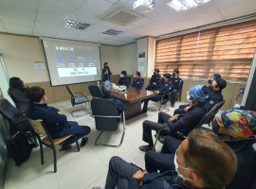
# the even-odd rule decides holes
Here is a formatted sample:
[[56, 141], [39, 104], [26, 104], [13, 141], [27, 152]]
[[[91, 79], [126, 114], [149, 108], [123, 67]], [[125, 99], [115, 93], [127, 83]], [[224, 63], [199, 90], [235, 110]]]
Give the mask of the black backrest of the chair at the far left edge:
[[0, 113], [9, 121], [9, 125], [14, 125], [23, 119], [22, 113], [13, 107], [6, 98], [0, 100]]

